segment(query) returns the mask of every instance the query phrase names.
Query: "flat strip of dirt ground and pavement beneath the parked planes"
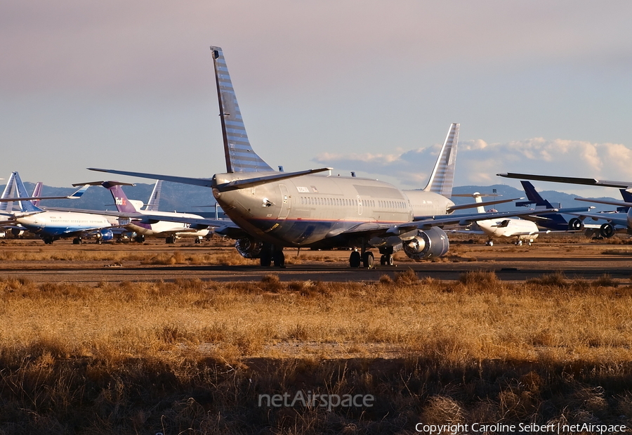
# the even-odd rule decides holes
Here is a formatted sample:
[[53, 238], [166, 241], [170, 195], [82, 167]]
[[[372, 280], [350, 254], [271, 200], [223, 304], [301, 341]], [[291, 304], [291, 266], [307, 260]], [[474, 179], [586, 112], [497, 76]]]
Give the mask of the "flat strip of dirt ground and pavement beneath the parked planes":
[[[27, 278], [35, 283], [100, 282], [199, 278], [201, 280], [261, 280], [275, 273], [281, 280], [367, 281], [381, 275], [395, 275], [411, 268], [423, 276], [456, 280], [473, 270], [494, 271], [501, 280], [525, 280], [560, 271], [569, 278], [597, 278], [607, 274], [629, 282], [632, 245], [627, 236], [609, 240], [588, 240], [582, 235], [544, 235], [532, 246], [495, 242], [484, 245], [482, 238], [450, 235], [447, 256], [433, 261], [412, 261], [403, 252], [395, 254], [394, 266], [372, 270], [350, 268], [348, 250], [311, 251], [286, 249], [286, 268], [261, 268], [256, 260], [241, 259], [232, 241], [214, 238], [195, 244], [178, 240], [168, 245], [161, 239], [112, 242], [103, 245], [58, 240], [44, 245], [41, 240], [1, 240], [0, 275]], [[228, 258], [228, 259], [227, 259]]]

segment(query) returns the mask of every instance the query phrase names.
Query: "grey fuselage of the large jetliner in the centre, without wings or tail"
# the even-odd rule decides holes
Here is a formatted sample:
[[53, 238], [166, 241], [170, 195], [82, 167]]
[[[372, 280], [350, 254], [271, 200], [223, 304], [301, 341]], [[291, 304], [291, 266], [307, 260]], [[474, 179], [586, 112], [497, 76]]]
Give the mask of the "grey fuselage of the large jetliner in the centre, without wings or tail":
[[[278, 172], [257, 176], [269, 174]], [[252, 173], [230, 173], [213, 178], [220, 184], [251, 177]], [[359, 225], [396, 225], [414, 216], [447, 214], [447, 207], [454, 204], [436, 193], [400, 190], [383, 181], [319, 175], [221, 193], [213, 189], [213, 195], [225, 214], [247, 233], [284, 247], [326, 243]]]

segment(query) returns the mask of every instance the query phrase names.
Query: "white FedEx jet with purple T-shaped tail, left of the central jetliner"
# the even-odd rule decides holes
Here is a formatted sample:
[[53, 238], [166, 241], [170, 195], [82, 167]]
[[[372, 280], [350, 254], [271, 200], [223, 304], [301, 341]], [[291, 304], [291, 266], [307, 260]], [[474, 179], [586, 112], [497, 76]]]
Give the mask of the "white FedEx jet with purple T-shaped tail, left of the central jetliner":
[[210, 233], [210, 230], [206, 225], [204, 228], [200, 228], [199, 225], [196, 226], [195, 224], [190, 223], [178, 223], [164, 220], [157, 221], [157, 219], [160, 219], [161, 216], [170, 219], [204, 219], [202, 216], [198, 216], [197, 214], [158, 212], [157, 207], [160, 200], [160, 187], [162, 184], [160, 180], [157, 181], [156, 186], [154, 186], [154, 190], [152, 191], [152, 195], [150, 195], [150, 200], [147, 202], [147, 207], [145, 207], [145, 209], [142, 209], [143, 201], [128, 199], [127, 195], [123, 191], [123, 188], [121, 188], [121, 186], [130, 186], [129, 183], [120, 183], [119, 181], [91, 181], [90, 183], [77, 183], [72, 186], [84, 186], [86, 184], [88, 186], [103, 186], [107, 190], [110, 190], [110, 193], [112, 193], [112, 197], [114, 198], [114, 204], [117, 207], [117, 215], [119, 216], [131, 217], [137, 216], [138, 214], [141, 216], [151, 216], [151, 221], [146, 222], [141, 219], [131, 219], [131, 221], [125, 226], [125, 228], [129, 231], [136, 232], [137, 242], [145, 240], [145, 236], [153, 236], [164, 238], [167, 243], [175, 243], [176, 238], [180, 237], [192, 237], [195, 238], [196, 243], [199, 243], [202, 241], [202, 238], [206, 237], [206, 235], [209, 235]]

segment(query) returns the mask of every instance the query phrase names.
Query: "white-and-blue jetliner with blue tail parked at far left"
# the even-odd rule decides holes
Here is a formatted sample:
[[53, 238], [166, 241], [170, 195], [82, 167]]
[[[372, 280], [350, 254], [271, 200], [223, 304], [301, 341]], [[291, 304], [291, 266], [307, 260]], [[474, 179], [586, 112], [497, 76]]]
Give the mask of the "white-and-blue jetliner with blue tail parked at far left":
[[97, 242], [112, 240], [112, 227], [120, 225], [116, 218], [90, 213], [58, 212], [36, 207], [29, 200], [24, 200], [28, 197], [24, 184], [17, 172], [13, 174], [15, 174], [18, 197], [22, 198], [20, 200], [21, 212], [13, 214], [13, 219], [27, 230], [39, 235], [46, 244], [51, 244], [62, 237], [74, 237], [73, 242], [79, 244], [81, 238], [86, 235], [95, 235]]

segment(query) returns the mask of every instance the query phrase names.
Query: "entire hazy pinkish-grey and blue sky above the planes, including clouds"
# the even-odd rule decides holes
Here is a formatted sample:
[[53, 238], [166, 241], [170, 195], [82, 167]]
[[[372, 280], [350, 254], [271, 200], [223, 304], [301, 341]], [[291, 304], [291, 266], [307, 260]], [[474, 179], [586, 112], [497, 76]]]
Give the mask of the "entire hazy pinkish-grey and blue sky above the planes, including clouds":
[[632, 182], [630, 16], [627, 0], [0, 0], [0, 176], [225, 171], [216, 45], [272, 167], [423, 188], [459, 122], [455, 186]]

